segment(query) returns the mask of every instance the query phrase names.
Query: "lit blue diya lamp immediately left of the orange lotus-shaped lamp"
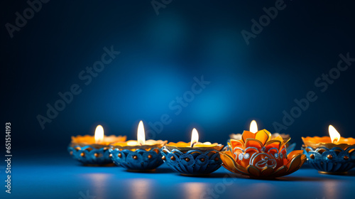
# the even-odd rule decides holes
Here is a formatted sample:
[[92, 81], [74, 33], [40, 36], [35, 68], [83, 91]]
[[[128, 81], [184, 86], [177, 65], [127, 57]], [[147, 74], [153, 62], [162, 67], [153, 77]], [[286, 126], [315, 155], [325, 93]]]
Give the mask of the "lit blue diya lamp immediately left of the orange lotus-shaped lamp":
[[170, 142], [163, 147], [163, 160], [174, 171], [187, 176], [207, 175], [221, 167], [219, 151], [222, 144], [198, 142], [199, 134], [192, 130], [191, 142]]

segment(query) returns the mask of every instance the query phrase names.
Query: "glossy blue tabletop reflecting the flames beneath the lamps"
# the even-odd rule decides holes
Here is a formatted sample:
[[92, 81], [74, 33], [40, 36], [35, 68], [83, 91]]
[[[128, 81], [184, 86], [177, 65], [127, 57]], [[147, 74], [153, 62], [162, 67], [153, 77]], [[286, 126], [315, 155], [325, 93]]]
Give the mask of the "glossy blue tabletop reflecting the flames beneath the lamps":
[[303, 166], [275, 180], [236, 176], [219, 168], [207, 177], [180, 176], [165, 164], [155, 173], [131, 173], [121, 167], [82, 166], [70, 157], [13, 160], [11, 194], [1, 198], [353, 198], [355, 171], [347, 176], [319, 174]]

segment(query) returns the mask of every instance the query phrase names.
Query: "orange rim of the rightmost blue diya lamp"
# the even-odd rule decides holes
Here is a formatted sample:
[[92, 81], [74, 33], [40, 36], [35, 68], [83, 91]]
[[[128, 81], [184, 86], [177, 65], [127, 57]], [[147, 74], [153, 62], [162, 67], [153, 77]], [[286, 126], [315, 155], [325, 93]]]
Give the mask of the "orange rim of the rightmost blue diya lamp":
[[350, 146], [355, 146], [355, 139], [354, 138], [344, 138], [340, 137], [340, 141], [346, 141], [351, 144], [346, 144], [346, 143], [332, 143], [332, 140], [330, 139], [329, 136], [307, 136], [307, 137], [302, 137], [302, 141], [305, 144], [305, 146], [310, 146], [313, 149], [317, 149], [321, 146], [327, 147], [328, 149], [332, 149], [334, 147], [339, 147], [340, 149], [346, 150]]

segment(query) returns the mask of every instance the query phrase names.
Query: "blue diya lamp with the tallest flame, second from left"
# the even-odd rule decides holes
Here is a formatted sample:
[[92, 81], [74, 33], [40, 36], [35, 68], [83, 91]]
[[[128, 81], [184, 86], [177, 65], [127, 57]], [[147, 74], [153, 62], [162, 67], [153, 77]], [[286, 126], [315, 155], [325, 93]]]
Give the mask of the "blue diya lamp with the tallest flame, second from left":
[[137, 140], [121, 141], [111, 144], [109, 151], [116, 165], [128, 171], [149, 172], [163, 163], [161, 148], [168, 141], [146, 140], [143, 122], [139, 122]]

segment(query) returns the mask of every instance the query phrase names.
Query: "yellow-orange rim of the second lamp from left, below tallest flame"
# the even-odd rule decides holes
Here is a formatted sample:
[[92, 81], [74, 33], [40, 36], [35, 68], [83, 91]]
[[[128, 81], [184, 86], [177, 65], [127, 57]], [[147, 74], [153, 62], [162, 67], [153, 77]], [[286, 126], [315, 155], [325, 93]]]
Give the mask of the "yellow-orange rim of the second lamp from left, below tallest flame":
[[[132, 143], [132, 145], [129, 145], [129, 143]], [[129, 149], [129, 150], [133, 150], [133, 149], [152, 149], [152, 148], [161, 148], [163, 147], [165, 144], [167, 144], [168, 141], [165, 140], [153, 140], [153, 139], [149, 139], [146, 140], [146, 143], [141, 145], [138, 144], [138, 142], [136, 140], [129, 140], [129, 141], [119, 141], [119, 142], [115, 142], [110, 144], [110, 147], [113, 149]]]

